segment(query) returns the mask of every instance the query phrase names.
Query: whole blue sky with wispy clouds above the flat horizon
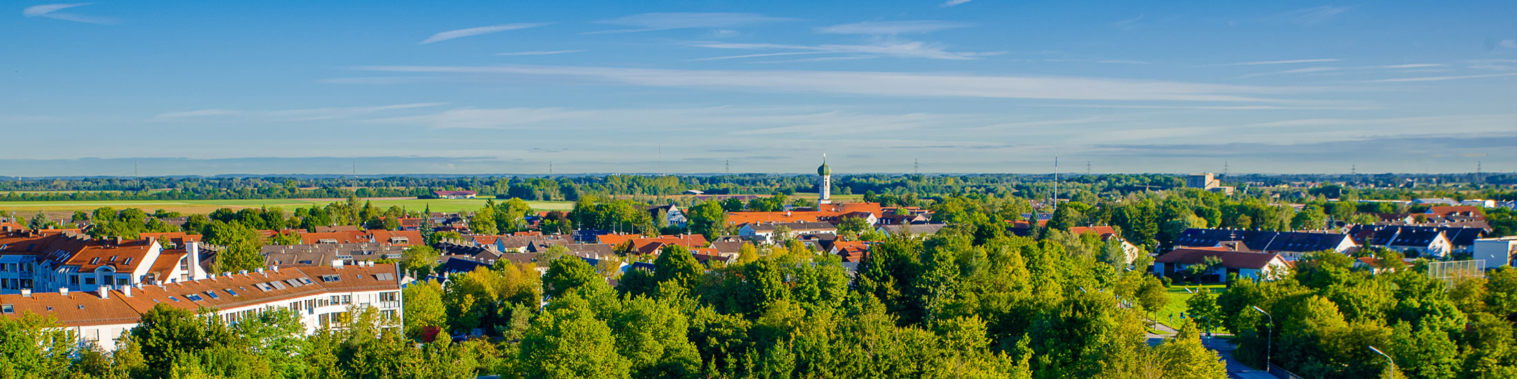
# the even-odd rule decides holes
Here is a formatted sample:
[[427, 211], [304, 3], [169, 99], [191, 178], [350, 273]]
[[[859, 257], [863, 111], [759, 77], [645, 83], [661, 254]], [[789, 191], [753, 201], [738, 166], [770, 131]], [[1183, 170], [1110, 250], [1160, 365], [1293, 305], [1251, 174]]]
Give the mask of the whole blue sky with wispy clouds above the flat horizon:
[[1517, 171], [1512, 2], [8, 6], [0, 176]]

